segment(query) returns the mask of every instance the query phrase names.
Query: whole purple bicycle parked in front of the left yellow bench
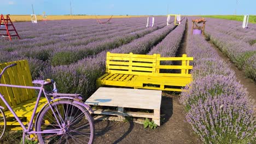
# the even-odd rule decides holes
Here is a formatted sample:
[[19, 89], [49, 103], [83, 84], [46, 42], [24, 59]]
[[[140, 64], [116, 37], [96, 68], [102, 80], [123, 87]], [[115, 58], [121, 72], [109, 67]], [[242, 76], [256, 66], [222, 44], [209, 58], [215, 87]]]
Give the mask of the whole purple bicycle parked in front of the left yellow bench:
[[[4, 71], [16, 64], [5, 67], [0, 74], [0, 80]], [[36, 134], [39, 143], [93, 143], [94, 142], [94, 122], [90, 115], [92, 110], [89, 105], [82, 103], [80, 94], [57, 93], [56, 83], [53, 80], [34, 80], [32, 83], [36, 86], [18, 86], [5, 85], [4, 87], [30, 88], [39, 90], [36, 105], [34, 106], [32, 117], [27, 125], [24, 125], [7, 100], [0, 93], [0, 98], [13, 113], [15, 119], [20, 123], [23, 129], [23, 143], [25, 138], [31, 134]], [[46, 92], [44, 86], [53, 85], [53, 92]], [[33, 119], [36, 116], [36, 110], [40, 101], [41, 94], [44, 94], [47, 103], [37, 115], [35, 123]], [[3, 107], [0, 106], [0, 136], [2, 137], [6, 127], [6, 119]], [[34, 125], [34, 126], [33, 126]], [[34, 128], [34, 130], [33, 130]], [[1, 139], [0, 137], [0, 139]]]

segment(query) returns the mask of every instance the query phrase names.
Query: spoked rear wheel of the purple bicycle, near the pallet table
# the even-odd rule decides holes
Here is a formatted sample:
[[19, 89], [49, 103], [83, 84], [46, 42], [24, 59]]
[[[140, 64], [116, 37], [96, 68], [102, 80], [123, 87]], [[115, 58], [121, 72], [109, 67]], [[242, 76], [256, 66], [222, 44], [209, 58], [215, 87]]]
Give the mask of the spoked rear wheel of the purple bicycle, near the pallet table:
[[39, 143], [93, 143], [94, 123], [86, 109], [70, 100], [55, 101], [51, 106], [53, 110], [48, 105], [38, 116], [36, 130], [44, 132], [37, 134]]

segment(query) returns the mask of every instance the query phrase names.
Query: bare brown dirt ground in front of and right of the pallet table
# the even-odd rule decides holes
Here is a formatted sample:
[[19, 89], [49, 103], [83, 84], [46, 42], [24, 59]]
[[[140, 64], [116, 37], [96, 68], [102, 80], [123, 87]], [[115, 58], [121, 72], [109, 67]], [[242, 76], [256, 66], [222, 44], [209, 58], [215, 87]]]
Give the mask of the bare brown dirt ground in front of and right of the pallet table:
[[162, 125], [155, 130], [133, 122], [95, 121], [95, 143], [197, 143], [182, 107], [177, 95], [162, 96]]

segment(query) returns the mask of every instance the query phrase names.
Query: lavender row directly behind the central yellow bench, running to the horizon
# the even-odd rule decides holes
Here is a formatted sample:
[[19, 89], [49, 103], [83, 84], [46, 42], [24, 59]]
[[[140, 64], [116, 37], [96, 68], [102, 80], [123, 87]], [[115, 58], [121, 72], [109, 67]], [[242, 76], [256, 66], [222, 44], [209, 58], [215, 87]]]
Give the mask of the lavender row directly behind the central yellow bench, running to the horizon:
[[[110, 50], [110, 52], [146, 54], [174, 28], [174, 25], [165, 26], [135, 39], [129, 44]], [[63, 93], [82, 93], [84, 97], [88, 98], [96, 90], [96, 80], [104, 74], [106, 52], [107, 50], [102, 51], [94, 57], [84, 58], [74, 64], [49, 67], [43, 71], [41, 78], [47, 77], [56, 80], [58, 88]]]

